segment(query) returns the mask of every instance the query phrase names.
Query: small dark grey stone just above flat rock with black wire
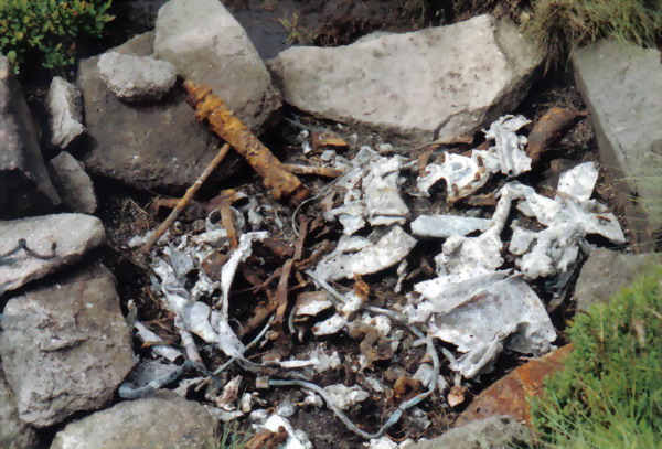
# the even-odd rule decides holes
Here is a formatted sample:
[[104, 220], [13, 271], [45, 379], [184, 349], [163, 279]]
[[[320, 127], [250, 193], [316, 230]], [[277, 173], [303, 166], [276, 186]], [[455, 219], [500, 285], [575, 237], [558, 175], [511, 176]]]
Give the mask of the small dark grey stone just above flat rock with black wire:
[[97, 207], [94, 184], [81, 162], [63, 151], [49, 161], [49, 172], [65, 206], [72, 212], [94, 214]]

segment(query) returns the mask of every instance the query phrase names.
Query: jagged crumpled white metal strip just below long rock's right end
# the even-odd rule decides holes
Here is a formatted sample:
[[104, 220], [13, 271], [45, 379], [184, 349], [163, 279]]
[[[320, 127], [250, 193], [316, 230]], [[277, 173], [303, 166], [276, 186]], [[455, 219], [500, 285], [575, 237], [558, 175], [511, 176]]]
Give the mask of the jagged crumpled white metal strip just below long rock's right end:
[[430, 163], [425, 168], [426, 174], [416, 180], [418, 190], [429, 196], [429, 189], [444, 179], [447, 201], [455, 203], [485, 185], [493, 173], [517, 177], [531, 170], [531, 158], [524, 151], [527, 139], [515, 133], [528, 122], [523, 116], [501, 117], [484, 131], [488, 140], [494, 140], [492, 147], [473, 150], [471, 156], [445, 153], [440, 164]]

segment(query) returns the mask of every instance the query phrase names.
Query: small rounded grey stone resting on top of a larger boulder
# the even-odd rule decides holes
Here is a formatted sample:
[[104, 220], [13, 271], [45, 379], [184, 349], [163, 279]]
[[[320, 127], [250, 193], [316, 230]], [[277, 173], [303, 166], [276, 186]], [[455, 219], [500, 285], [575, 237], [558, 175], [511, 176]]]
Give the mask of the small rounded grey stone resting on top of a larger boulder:
[[150, 56], [104, 53], [97, 67], [108, 88], [125, 100], [161, 99], [177, 81], [174, 65]]

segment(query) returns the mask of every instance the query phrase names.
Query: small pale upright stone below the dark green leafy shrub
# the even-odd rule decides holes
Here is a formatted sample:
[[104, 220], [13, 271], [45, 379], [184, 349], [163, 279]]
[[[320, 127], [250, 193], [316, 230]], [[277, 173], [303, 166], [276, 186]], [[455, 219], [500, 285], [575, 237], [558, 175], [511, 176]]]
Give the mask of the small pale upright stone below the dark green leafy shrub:
[[83, 126], [83, 98], [78, 89], [64, 78], [55, 76], [46, 96], [51, 143], [65, 149], [85, 132]]

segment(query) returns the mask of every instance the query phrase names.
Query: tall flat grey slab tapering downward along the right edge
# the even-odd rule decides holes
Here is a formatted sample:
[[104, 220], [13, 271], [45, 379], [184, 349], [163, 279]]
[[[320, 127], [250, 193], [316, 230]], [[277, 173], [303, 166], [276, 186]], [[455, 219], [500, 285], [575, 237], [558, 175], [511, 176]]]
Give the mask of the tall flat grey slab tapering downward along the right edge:
[[[602, 164], [642, 243], [662, 229], [662, 60], [659, 51], [601, 41], [573, 54]], [[637, 197], [632, 202], [631, 197]]]

